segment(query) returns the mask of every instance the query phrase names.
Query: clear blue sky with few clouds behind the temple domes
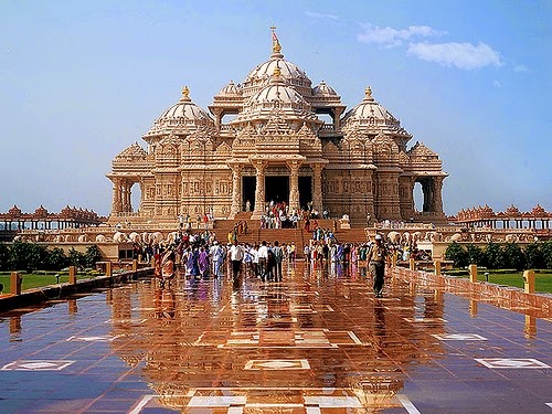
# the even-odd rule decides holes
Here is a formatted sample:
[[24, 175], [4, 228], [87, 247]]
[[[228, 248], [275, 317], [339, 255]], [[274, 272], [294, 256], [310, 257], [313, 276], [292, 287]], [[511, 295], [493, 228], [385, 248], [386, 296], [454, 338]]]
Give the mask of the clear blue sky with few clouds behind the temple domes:
[[183, 85], [206, 108], [283, 53], [348, 109], [373, 96], [449, 177], [447, 214], [552, 211], [552, 2], [0, 0], [0, 212], [109, 214], [112, 159]]

